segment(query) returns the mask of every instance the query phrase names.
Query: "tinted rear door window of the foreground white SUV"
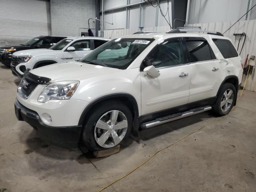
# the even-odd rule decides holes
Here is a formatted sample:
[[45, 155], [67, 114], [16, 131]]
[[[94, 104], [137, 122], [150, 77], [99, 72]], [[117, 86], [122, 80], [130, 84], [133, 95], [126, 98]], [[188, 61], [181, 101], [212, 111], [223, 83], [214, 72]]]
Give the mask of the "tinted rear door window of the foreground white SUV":
[[206, 40], [186, 40], [191, 62], [216, 59]]

